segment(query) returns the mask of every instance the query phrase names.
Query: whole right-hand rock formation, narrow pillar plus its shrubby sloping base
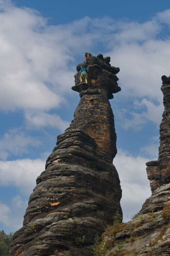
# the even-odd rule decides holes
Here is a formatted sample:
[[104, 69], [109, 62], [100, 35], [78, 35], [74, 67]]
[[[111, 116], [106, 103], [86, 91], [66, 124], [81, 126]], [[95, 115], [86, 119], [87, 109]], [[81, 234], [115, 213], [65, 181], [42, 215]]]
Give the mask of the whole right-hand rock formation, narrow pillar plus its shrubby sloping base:
[[96, 247], [96, 251], [101, 249], [100, 255], [170, 255], [170, 77], [163, 76], [162, 80], [165, 110], [160, 124], [159, 157], [147, 163], [152, 195], [132, 221], [107, 227], [103, 241]]

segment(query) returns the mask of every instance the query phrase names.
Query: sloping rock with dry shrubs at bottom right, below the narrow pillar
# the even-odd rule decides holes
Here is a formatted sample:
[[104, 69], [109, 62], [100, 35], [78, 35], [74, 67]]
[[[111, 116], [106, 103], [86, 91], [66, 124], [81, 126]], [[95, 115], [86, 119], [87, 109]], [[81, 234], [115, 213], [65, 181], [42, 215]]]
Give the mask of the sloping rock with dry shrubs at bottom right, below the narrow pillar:
[[107, 227], [100, 255], [169, 256], [169, 216], [170, 184], [165, 184], [153, 192], [132, 221]]

